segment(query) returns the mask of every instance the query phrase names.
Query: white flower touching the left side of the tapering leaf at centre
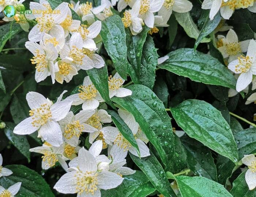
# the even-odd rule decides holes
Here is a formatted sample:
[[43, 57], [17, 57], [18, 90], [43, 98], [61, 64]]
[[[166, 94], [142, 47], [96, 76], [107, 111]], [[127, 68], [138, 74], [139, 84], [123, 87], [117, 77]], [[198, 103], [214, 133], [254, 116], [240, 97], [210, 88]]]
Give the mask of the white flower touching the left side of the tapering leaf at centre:
[[101, 95], [94, 87], [93, 82], [89, 76], [86, 76], [83, 80], [83, 85], [79, 86], [80, 93], [72, 94], [66, 99], [69, 99], [72, 102], [72, 105], [82, 105], [83, 110], [94, 110], [97, 109], [100, 102], [103, 102]]

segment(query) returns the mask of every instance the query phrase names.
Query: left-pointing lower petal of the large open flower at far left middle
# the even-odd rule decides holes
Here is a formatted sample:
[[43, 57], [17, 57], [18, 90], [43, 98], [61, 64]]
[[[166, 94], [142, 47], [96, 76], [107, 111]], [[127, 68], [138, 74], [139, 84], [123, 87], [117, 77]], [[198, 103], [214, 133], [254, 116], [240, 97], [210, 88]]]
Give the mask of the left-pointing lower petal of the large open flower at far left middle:
[[19, 135], [27, 135], [34, 133], [39, 127], [34, 127], [32, 125], [33, 117], [26, 118], [25, 120], [21, 121], [13, 130], [13, 133]]

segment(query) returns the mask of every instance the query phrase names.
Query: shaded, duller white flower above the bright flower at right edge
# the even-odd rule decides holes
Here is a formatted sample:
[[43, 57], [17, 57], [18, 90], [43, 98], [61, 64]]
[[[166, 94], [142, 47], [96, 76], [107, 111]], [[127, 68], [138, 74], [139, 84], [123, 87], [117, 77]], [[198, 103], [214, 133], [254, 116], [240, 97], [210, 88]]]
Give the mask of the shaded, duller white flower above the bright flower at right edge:
[[229, 58], [229, 62], [237, 59], [242, 53], [247, 51], [250, 40], [238, 42], [238, 37], [233, 29], [229, 29], [226, 38], [222, 37], [219, 42], [222, 42], [218, 50], [221, 52], [223, 58]]

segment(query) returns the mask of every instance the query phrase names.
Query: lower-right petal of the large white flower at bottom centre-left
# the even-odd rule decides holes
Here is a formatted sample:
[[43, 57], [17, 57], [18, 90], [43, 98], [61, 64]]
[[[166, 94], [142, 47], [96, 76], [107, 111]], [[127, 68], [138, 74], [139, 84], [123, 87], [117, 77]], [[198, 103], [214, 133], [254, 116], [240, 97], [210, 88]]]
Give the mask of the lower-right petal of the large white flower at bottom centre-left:
[[116, 173], [103, 170], [98, 174], [98, 187], [101, 189], [116, 188], [123, 182], [124, 178]]

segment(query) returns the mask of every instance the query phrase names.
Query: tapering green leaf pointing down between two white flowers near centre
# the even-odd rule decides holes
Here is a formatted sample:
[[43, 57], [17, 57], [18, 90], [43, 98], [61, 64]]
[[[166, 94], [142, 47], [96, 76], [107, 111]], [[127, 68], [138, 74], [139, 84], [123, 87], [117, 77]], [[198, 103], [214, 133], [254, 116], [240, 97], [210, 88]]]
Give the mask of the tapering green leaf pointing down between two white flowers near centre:
[[115, 109], [109, 98], [108, 69], [106, 65], [102, 68], [92, 68], [86, 72], [104, 101]]

